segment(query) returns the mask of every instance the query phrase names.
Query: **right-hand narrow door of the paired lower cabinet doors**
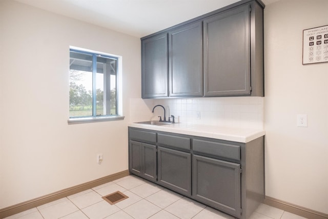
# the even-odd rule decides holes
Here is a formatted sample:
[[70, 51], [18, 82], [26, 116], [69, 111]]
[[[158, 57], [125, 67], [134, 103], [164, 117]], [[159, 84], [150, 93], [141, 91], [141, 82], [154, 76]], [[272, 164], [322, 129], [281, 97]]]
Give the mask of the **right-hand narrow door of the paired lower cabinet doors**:
[[148, 180], [156, 181], [156, 146], [142, 143], [142, 150], [142, 175]]

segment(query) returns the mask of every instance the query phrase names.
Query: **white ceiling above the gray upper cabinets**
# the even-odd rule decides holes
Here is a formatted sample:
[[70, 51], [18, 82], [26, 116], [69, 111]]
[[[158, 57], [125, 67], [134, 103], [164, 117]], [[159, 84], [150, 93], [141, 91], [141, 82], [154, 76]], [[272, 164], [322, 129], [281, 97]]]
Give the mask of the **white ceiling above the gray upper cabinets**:
[[[239, 0], [15, 0], [142, 37]], [[265, 5], [282, 0], [262, 0]]]

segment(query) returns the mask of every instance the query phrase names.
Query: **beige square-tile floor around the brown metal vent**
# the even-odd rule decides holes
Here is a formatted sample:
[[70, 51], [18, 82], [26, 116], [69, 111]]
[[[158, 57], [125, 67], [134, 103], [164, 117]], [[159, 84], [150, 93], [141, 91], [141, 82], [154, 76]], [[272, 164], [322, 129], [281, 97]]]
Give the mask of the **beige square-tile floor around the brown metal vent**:
[[[110, 205], [101, 198], [121, 191], [129, 198]], [[129, 175], [116, 181], [88, 189], [12, 215], [7, 219], [211, 219], [234, 217], [190, 200], [168, 189]], [[261, 204], [251, 219], [300, 219], [283, 210]]]

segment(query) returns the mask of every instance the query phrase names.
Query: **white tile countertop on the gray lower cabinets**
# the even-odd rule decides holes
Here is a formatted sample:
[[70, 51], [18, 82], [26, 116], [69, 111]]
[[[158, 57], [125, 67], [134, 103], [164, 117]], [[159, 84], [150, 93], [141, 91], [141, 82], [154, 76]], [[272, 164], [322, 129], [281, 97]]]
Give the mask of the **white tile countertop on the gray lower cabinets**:
[[231, 128], [187, 123], [174, 123], [163, 126], [130, 123], [129, 127], [172, 132], [177, 134], [188, 134], [200, 137], [217, 138], [220, 140], [240, 143], [248, 143], [258, 137], [265, 135], [265, 131], [262, 129]]

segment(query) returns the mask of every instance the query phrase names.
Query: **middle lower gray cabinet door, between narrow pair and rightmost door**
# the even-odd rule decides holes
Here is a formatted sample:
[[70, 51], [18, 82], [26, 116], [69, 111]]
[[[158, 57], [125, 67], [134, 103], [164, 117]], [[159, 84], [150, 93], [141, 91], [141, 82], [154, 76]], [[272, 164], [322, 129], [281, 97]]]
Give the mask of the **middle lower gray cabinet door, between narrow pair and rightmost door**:
[[191, 154], [158, 147], [158, 183], [191, 195]]

